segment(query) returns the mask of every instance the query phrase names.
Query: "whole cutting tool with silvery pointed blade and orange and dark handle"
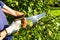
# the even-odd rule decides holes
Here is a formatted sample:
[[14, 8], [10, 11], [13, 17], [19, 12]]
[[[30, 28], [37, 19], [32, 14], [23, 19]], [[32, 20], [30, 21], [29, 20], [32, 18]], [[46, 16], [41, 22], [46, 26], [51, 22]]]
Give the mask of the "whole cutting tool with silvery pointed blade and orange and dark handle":
[[29, 20], [31, 20], [30, 22], [34, 25], [36, 22], [38, 22], [41, 18], [43, 18], [46, 14], [42, 13], [39, 15], [34, 15], [31, 17], [26, 17], [26, 18], [18, 18], [19, 20], [21, 20], [21, 23], [23, 23], [23, 28], [27, 28], [28, 24], [29, 24]]

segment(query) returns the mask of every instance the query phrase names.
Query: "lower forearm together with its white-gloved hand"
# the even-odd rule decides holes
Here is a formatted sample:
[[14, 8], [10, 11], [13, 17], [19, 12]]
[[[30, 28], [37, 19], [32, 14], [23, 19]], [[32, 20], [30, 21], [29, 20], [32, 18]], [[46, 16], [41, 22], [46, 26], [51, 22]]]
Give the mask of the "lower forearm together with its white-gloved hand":
[[11, 35], [14, 32], [19, 31], [20, 26], [21, 26], [21, 20], [13, 21], [8, 28], [0, 32], [0, 40], [4, 39], [6, 36]]

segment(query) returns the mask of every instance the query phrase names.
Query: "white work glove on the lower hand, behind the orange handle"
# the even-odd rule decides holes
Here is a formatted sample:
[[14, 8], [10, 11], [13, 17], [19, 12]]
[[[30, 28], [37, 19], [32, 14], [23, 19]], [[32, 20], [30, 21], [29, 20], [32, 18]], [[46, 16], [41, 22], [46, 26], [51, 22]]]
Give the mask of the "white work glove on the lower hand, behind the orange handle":
[[19, 31], [20, 26], [21, 26], [21, 20], [13, 21], [12, 24], [8, 28], [6, 28], [8, 35]]

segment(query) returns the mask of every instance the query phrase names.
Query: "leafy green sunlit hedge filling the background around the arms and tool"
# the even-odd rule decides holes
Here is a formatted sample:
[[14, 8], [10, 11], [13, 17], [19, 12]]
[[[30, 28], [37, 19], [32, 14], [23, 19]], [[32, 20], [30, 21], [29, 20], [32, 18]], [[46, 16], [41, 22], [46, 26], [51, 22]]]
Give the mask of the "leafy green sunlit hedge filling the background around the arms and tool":
[[[29, 29], [21, 28], [14, 40], [60, 40], [60, 15], [52, 15], [51, 7], [60, 6], [59, 0], [3, 0], [14, 10], [29, 16], [46, 12], [46, 16]], [[58, 14], [58, 13], [57, 13]], [[6, 15], [9, 24], [13, 16]]]

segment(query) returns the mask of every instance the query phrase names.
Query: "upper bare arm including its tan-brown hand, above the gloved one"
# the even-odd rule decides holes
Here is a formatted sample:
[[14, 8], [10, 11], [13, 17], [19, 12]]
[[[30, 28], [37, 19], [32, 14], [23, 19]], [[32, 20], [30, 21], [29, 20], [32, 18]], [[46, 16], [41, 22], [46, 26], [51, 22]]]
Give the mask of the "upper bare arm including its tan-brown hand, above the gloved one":
[[5, 12], [5, 13], [7, 13], [7, 14], [13, 15], [13, 16], [21, 16], [21, 15], [24, 15], [24, 13], [15, 11], [15, 10], [9, 8], [6, 5], [3, 6], [2, 11]]

